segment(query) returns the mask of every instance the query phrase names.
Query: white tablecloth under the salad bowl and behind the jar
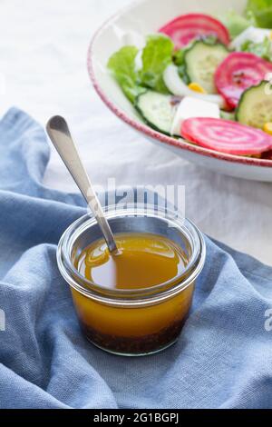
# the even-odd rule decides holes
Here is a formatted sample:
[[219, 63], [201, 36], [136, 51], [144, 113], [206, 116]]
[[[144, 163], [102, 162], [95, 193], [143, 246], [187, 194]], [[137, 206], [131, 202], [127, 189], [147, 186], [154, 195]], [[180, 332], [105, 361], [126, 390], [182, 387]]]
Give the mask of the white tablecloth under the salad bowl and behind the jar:
[[[63, 114], [96, 184], [184, 184], [186, 214], [210, 236], [272, 265], [272, 184], [214, 174], [158, 148], [102, 104], [86, 71], [95, 29], [130, 0], [0, 0], [0, 113]], [[3, 84], [2, 84], [3, 86]], [[75, 187], [57, 154], [44, 184]]]

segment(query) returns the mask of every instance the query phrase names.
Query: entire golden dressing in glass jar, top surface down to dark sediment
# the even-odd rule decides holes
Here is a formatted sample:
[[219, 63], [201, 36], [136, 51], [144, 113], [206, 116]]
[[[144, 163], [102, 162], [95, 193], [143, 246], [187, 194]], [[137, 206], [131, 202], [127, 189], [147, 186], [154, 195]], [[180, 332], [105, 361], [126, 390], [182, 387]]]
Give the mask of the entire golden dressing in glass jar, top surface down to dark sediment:
[[186, 254], [157, 234], [119, 233], [115, 241], [116, 253], [100, 240], [74, 259], [77, 271], [101, 291], [121, 293], [117, 303], [103, 303], [72, 289], [83, 330], [92, 343], [112, 353], [157, 352], [176, 341], [189, 313], [193, 283], [160, 298], [179, 283]]

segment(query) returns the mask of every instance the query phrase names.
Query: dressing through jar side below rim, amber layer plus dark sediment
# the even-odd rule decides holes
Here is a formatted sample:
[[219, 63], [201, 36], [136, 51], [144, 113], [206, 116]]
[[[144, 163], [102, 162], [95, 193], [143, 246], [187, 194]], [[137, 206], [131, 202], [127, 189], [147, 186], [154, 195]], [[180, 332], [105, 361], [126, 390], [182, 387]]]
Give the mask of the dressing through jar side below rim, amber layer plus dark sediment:
[[173, 297], [140, 306], [94, 301], [71, 288], [73, 303], [89, 341], [112, 353], [147, 354], [177, 340], [188, 316], [194, 283]]

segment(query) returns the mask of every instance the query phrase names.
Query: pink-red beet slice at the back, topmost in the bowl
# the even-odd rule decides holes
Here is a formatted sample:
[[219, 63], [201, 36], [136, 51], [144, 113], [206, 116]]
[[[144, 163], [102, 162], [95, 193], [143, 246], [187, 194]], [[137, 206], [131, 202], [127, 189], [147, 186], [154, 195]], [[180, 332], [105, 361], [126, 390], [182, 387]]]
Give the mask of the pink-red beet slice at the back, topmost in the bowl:
[[224, 45], [230, 43], [226, 26], [204, 14], [180, 15], [162, 26], [159, 32], [169, 35], [176, 48], [188, 45], [193, 39], [204, 35], [215, 35]]

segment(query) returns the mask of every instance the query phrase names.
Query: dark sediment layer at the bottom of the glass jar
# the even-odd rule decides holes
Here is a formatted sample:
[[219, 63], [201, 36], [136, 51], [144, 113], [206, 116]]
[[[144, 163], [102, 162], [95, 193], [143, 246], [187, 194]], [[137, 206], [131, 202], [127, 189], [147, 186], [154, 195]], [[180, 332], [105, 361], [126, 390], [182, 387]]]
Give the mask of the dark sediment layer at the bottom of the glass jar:
[[111, 353], [144, 355], [155, 353], [175, 343], [180, 336], [186, 318], [171, 323], [158, 333], [143, 336], [121, 336], [101, 333], [85, 323], [81, 323], [83, 333], [88, 340]]

